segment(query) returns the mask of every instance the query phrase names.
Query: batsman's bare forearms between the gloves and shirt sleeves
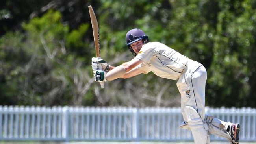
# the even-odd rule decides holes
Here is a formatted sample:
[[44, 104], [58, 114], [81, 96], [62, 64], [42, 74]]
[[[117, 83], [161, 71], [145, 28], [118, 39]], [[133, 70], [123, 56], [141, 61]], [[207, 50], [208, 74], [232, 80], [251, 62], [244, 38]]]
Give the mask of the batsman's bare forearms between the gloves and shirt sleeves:
[[134, 58], [129, 62], [123, 63], [122, 65], [119, 65], [112, 70], [110, 70], [106, 74], [106, 80], [112, 81], [117, 78], [130, 78], [132, 76], [136, 76], [138, 74], [141, 74], [143, 71], [138, 70], [135, 68], [137, 65], [141, 64], [142, 60]]

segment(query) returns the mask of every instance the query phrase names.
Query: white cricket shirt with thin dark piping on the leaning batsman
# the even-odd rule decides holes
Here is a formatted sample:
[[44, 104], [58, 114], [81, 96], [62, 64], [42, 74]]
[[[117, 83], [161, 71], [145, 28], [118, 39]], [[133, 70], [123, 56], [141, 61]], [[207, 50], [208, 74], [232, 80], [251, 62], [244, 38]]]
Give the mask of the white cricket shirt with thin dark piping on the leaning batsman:
[[152, 71], [157, 76], [173, 80], [179, 78], [190, 60], [160, 42], [143, 44], [136, 58], [143, 61], [136, 68], [143, 70], [145, 74]]

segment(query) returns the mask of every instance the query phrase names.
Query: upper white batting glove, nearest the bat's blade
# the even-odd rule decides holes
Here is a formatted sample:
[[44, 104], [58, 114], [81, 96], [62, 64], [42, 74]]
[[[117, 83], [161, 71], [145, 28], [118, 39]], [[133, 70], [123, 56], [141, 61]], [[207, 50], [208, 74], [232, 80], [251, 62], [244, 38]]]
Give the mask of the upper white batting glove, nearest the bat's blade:
[[96, 57], [93, 57], [91, 59], [91, 61], [92, 61], [91, 62], [91, 68], [93, 70], [98, 70], [98, 69], [100, 69], [100, 67], [101, 67], [102, 70], [104, 70], [106, 72], [108, 72], [110, 70], [110, 67], [109, 67], [108, 63], [106, 61], [104, 61], [103, 59], [98, 59]]

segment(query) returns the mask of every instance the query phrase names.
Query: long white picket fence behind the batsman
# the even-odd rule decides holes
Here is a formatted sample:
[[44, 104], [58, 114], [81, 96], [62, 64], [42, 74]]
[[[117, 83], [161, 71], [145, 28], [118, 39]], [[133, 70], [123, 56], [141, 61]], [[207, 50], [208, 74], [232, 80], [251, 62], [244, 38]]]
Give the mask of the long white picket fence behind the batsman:
[[[256, 141], [256, 109], [206, 107], [206, 113], [239, 122], [240, 140]], [[178, 127], [182, 121], [176, 107], [0, 106], [0, 140], [193, 141], [190, 131]]]

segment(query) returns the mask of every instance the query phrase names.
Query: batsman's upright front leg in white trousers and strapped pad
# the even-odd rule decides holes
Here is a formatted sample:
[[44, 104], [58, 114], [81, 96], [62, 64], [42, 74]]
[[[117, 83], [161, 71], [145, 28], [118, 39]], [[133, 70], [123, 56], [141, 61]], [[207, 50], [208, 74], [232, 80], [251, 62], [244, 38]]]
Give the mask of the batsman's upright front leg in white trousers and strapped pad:
[[182, 115], [196, 144], [210, 143], [208, 127], [203, 123], [206, 79], [206, 70], [200, 66], [197, 69], [188, 68], [177, 82], [181, 93]]

